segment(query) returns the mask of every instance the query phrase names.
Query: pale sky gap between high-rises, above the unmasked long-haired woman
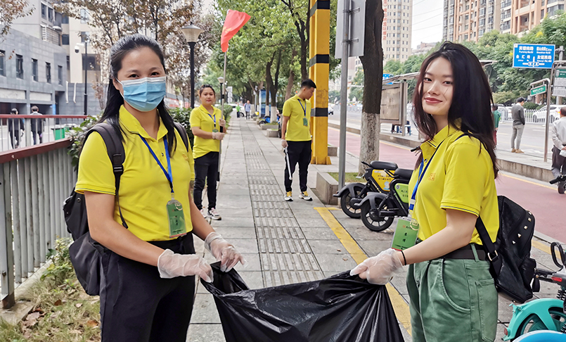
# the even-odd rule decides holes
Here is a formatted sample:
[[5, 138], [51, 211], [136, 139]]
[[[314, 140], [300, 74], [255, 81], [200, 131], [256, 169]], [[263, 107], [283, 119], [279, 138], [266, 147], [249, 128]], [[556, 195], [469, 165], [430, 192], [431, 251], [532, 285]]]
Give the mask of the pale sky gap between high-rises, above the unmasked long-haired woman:
[[443, 4], [442, 0], [413, 0], [413, 49], [420, 42], [440, 42]]

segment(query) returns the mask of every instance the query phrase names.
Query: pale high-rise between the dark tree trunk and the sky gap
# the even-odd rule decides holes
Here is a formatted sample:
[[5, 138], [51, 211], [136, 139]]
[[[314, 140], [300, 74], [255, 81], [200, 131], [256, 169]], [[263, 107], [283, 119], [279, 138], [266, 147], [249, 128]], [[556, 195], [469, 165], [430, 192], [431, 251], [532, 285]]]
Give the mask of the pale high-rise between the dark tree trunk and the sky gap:
[[383, 62], [411, 56], [413, 0], [383, 0]]

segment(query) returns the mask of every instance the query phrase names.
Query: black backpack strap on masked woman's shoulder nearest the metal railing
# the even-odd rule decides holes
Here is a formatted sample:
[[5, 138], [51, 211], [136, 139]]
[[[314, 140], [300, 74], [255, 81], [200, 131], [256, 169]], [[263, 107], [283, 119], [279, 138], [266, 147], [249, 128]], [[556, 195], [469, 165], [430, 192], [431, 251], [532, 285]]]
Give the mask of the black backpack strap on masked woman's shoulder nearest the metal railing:
[[122, 215], [122, 208], [120, 208], [120, 196], [118, 196], [118, 190], [120, 189], [120, 177], [124, 173], [124, 160], [126, 159], [126, 153], [124, 151], [124, 145], [120, 141], [120, 137], [115, 131], [114, 127], [106, 122], [101, 122], [94, 125], [89, 132], [86, 133], [84, 141], [92, 132], [98, 132], [101, 134], [104, 144], [106, 145], [106, 151], [108, 151], [108, 158], [112, 163], [112, 171], [114, 172], [115, 187], [116, 187], [116, 201], [118, 203], [118, 211], [120, 212], [120, 220], [122, 220], [122, 226], [128, 229], [128, 224], [124, 220]]

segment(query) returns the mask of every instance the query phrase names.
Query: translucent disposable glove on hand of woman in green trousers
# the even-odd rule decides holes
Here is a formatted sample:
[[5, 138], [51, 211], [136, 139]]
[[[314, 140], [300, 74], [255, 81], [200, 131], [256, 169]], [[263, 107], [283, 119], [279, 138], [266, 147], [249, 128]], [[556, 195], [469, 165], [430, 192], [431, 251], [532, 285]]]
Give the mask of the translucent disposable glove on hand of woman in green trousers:
[[385, 285], [401, 267], [403, 264], [397, 256], [397, 251], [389, 248], [361, 262], [350, 271], [350, 275], [358, 274], [361, 279], [368, 279], [370, 284]]

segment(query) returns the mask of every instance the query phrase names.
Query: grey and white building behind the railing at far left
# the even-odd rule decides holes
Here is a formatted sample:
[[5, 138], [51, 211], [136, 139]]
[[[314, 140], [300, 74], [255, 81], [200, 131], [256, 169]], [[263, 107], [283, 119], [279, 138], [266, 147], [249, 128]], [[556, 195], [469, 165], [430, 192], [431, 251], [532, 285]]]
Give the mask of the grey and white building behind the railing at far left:
[[[52, 0], [28, 0], [32, 15], [18, 18], [0, 44], [0, 113], [18, 108], [30, 113], [38, 106], [44, 114], [80, 115], [84, 107], [84, 70], [88, 81], [96, 77], [96, 58], [83, 58], [81, 20], [69, 20], [53, 8]], [[86, 37], [86, 36], [83, 36]], [[90, 58], [89, 58], [90, 57]], [[84, 59], [84, 61], [83, 61]], [[100, 104], [91, 83], [86, 84], [89, 114], [98, 114]]]

